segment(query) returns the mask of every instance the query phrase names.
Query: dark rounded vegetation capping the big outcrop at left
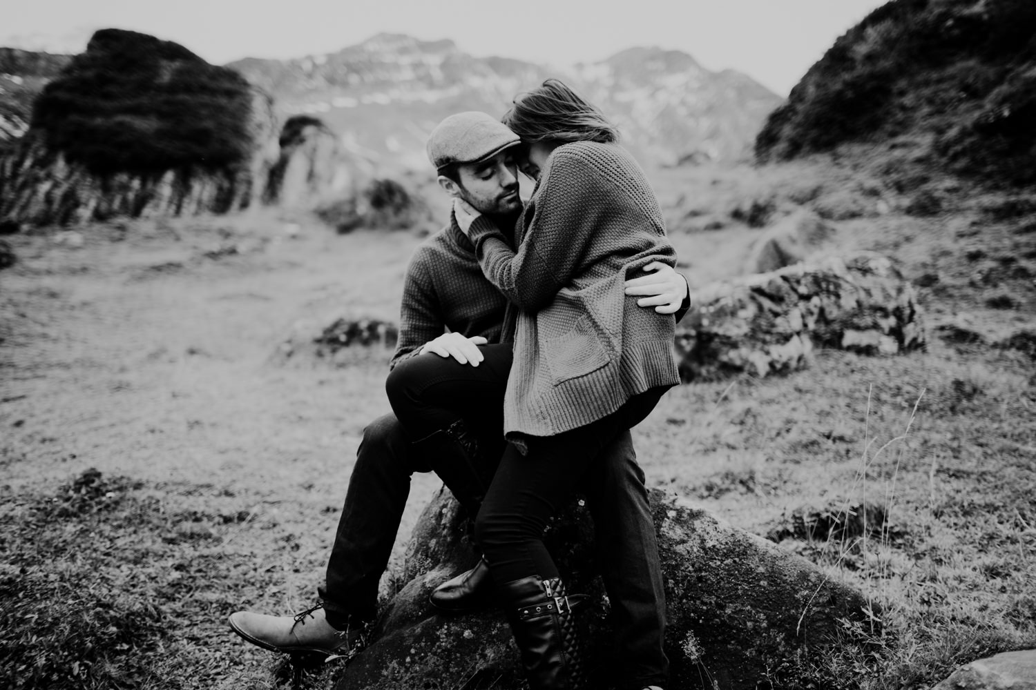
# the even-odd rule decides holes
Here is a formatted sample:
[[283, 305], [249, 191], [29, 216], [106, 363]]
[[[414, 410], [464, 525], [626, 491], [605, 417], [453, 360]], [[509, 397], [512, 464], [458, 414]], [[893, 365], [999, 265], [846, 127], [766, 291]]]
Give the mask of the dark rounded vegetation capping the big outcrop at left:
[[250, 113], [237, 72], [171, 41], [105, 29], [40, 93], [32, 126], [102, 174], [211, 170], [246, 157]]

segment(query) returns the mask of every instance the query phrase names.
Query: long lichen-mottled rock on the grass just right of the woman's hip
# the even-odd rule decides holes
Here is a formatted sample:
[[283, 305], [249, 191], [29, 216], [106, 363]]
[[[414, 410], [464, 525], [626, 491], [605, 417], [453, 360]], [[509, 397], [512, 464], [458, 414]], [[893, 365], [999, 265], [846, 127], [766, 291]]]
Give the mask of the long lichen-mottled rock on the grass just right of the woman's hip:
[[817, 346], [891, 355], [924, 342], [913, 286], [869, 252], [709, 286], [677, 330], [685, 381], [793, 371]]

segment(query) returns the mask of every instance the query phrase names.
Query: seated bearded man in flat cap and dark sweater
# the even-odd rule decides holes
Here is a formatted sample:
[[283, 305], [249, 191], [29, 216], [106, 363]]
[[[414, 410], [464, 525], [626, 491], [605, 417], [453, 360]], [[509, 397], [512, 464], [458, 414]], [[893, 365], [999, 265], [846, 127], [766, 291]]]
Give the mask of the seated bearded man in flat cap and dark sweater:
[[[519, 143], [516, 134], [492, 117], [461, 113], [436, 127], [428, 154], [447, 193], [494, 218], [498, 227], [513, 228], [522, 210], [514, 157]], [[686, 281], [668, 267], [655, 269], [628, 281], [628, 294], [646, 296], [638, 301], [644, 308], [677, 311], [686, 298]], [[450, 224], [422, 244], [407, 268], [392, 365], [406, 357], [435, 353], [478, 366], [482, 362], [478, 346], [498, 341], [506, 306], [505, 298], [483, 275], [473, 246], [451, 216]], [[280, 652], [348, 655], [358, 649], [376, 613], [378, 580], [399, 528], [410, 475], [434, 470], [473, 517], [492, 477], [493, 460], [502, 449], [501, 415], [502, 406], [492, 407], [481, 418], [465, 419], [464, 428], [456, 431], [479, 449], [469, 462], [452, 459], [456, 454], [436, 452], [435, 440], [411, 443], [392, 415], [370, 424], [356, 453], [326, 579], [319, 589], [320, 603], [294, 617], [237, 611], [230, 618], [234, 631], [250, 642]], [[643, 474], [628, 431], [603, 453], [602, 466], [606, 469], [593, 473], [594, 481], [585, 490], [618, 643], [634, 660], [660, 655], [664, 594], [658, 563], [643, 563], [640, 556], [644, 540], [654, 540], [655, 531], [651, 515], [635, 507], [646, 502]], [[631, 568], [629, 563], [637, 565]], [[488, 583], [485, 569], [477, 566], [440, 588], [433, 602], [444, 608], [469, 607], [485, 592], [484, 582]], [[633, 678], [636, 669], [629, 672]]]

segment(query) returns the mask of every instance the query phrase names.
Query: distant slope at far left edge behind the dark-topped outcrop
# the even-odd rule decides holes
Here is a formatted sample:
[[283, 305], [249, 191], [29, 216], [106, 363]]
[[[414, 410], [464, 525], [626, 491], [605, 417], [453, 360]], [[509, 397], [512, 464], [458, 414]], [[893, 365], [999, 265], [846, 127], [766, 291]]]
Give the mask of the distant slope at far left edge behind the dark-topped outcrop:
[[70, 55], [0, 48], [0, 146], [28, 130], [32, 101], [70, 60]]

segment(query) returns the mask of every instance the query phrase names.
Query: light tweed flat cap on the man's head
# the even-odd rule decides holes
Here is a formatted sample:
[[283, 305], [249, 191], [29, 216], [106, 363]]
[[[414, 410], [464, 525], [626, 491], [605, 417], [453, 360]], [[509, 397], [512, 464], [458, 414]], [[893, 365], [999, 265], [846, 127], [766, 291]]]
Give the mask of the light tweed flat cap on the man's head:
[[485, 160], [521, 142], [518, 134], [492, 116], [478, 111], [457, 113], [440, 122], [425, 150], [435, 170], [451, 163]]

